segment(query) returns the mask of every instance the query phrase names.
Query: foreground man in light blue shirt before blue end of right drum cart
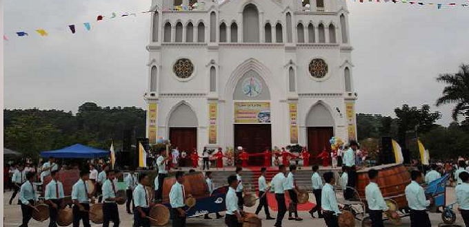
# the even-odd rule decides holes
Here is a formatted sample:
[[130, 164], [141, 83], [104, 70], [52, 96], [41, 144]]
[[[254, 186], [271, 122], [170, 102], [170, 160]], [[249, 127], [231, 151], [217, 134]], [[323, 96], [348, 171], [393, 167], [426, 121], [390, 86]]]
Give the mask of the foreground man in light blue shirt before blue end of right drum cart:
[[412, 182], [406, 186], [406, 199], [410, 208], [410, 226], [431, 227], [432, 224], [426, 211], [427, 206], [430, 206], [430, 200], [426, 200], [425, 190], [418, 183], [421, 182], [422, 175], [420, 171], [412, 171], [410, 177]]

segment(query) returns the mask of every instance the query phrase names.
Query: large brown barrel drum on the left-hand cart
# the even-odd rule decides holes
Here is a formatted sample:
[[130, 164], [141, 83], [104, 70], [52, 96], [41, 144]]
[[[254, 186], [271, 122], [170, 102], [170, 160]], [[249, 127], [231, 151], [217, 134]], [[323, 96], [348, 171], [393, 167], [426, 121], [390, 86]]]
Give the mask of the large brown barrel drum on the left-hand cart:
[[[176, 183], [174, 175], [166, 177], [163, 182], [163, 199], [169, 199], [172, 185]], [[208, 196], [208, 185], [201, 172], [184, 174], [184, 191], [186, 197], [192, 195], [195, 198]]]

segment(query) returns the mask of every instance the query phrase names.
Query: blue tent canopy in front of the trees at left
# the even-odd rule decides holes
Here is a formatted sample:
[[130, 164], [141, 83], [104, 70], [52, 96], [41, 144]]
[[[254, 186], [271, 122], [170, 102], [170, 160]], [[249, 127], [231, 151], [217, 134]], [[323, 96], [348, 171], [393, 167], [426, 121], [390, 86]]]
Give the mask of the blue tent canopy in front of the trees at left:
[[82, 144], [74, 144], [70, 147], [55, 151], [42, 151], [41, 157], [43, 158], [101, 158], [108, 156], [110, 151], [94, 149]]

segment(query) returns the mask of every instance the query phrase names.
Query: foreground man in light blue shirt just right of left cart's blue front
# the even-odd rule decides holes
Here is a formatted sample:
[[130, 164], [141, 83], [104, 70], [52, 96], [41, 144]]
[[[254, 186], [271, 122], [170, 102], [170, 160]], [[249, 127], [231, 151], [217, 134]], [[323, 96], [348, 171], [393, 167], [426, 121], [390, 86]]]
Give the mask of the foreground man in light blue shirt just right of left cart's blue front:
[[226, 193], [225, 204], [226, 204], [226, 215], [225, 224], [228, 227], [238, 227], [239, 222], [243, 220], [241, 217], [243, 211], [239, 210], [238, 196], [236, 195], [236, 188], [238, 186], [238, 180], [235, 175], [228, 177], [228, 193]]

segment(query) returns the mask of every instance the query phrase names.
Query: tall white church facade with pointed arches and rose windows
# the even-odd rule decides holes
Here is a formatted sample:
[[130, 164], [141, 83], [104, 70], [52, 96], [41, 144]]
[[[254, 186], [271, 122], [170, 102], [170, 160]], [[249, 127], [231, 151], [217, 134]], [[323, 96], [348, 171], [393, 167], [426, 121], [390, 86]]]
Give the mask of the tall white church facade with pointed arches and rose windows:
[[[179, 151], [356, 138], [343, 0], [152, 0], [147, 138]], [[260, 164], [253, 159], [250, 164]]]

